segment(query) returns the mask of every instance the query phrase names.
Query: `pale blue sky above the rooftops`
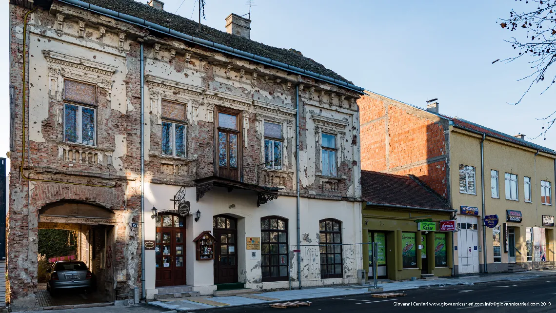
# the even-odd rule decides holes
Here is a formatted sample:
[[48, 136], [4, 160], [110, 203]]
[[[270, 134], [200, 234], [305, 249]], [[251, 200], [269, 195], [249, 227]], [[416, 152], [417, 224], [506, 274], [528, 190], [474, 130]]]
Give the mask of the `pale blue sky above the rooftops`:
[[[141, 2], [145, 2], [143, 0]], [[165, 0], [165, 10], [176, 12], [182, 0]], [[177, 14], [196, 19], [197, 0], [185, 0]], [[225, 31], [229, 13], [244, 14], [246, 0], [206, 0], [207, 24]], [[255, 0], [251, 9], [251, 39], [275, 47], [295, 48], [324, 64], [355, 85], [382, 95], [425, 106], [439, 98], [440, 113], [457, 116], [496, 130], [535, 137], [542, 118], [556, 111], [556, 87], [540, 95], [542, 86], [517, 106], [530, 81], [523, 59], [497, 62], [514, 51], [504, 39], [510, 32], [499, 17], [525, 4], [489, 1], [327, 1]], [[0, 12], [0, 155], [9, 150], [8, 1]], [[514, 33], [512, 33], [514, 34]], [[532, 140], [556, 148], [556, 128]]]

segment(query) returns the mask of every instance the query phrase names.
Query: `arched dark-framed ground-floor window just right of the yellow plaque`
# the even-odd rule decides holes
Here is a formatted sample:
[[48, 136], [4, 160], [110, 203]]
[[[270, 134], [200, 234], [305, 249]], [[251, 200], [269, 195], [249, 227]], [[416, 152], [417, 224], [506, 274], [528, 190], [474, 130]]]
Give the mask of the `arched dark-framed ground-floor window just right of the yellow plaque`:
[[262, 281], [288, 280], [287, 220], [279, 216], [261, 218]]

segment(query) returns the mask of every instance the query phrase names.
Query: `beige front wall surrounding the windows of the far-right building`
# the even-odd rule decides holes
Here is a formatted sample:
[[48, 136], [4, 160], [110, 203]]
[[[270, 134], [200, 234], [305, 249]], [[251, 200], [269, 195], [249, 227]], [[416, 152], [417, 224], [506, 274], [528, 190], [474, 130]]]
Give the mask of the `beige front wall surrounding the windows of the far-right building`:
[[[549, 153], [535, 150], [533, 148], [502, 141], [494, 137], [486, 136], [484, 140], [484, 213], [483, 213], [483, 189], [481, 188], [481, 147], [483, 136], [478, 133], [469, 132], [450, 126], [450, 185], [451, 202], [458, 210], [456, 222], [463, 226], [458, 235], [454, 236], [454, 265], [455, 273], [485, 271], [484, 260], [486, 254], [486, 272], [502, 272], [517, 270], [520, 268], [542, 268], [553, 265], [554, 262], [554, 226], [543, 226], [542, 217], [555, 215], [554, 207], [554, 159]], [[460, 190], [460, 165], [475, 168], [474, 185], [475, 191]], [[498, 183], [496, 177], [491, 176], [491, 171], [498, 171]], [[462, 172], [463, 173], [463, 172]], [[508, 182], [511, 184], [507, 190], [505, 175], [510, 175]], [[494, 173], [493, 173], [494, 174]], [[513, 178], [517, 178], [517, 195], [512, 193]], [[530, 178], [530, 201], [525, 201], [529, 185], [524, 180]], [[542, 182], [550, 183], [550, 197], [542, 203]], [[489, 192], [490, 191], [490, 192]], [[497, 197], [498, 195], [498, 197]], [[516, 198], [512, 200], [511, 198]], [[461, 206], [478, 208], [478, 215], [462, 214]], [[520, 211], [521, 222], [512, 222], [507, 219], [507, 210]], [[500, 254], [495, 255], [494, 245], [498, 245], [497, 228], [481, 227], [481, 218], [484, 215], [498, 215], [499, 219], [499, 244]], [[478, 225], [476, 229], [465, 229], [468, 225], [473, 228], [473, 218], [476, 217]], [[506, 227], [508, 227], [508, 232]], [[538, 227], [539, 230], [533, 227]], [[460, 227], [461, 228], [461, 227]], [[540, 228], [544, 228], [542, 235]], [[485, 231], [485, 241], [483, 241]], [[534, 232], [533, 238], [528, 239], [526, 232]], [[513, 233], [513, 235], [512, 235]], [[462, 234], [466, 234], [462, 236]], [[514, 237], [514, 240], [511, 237]], [[543, 238], [540, 238], [542, 236]], [[508, 249], [506, 247], [508, 241]], [[514, 251], [512, 251], [514, 242]], [[543, 244], [545, 242], [545, 244]], [[476, 247], [476, 250], [475, 250]], [[471, 252], [469, 252], [471, 249]], [[535, 251], [541, 256], [535, 257]], [[540, 261], [545, 254], [546, 262]], [[466, 255], [469, 257], [466, 258]], [[515, 257], [515, 259], [514, 259]], [[496, 259], [495, 259], [496, 258]], [[499, 259], [498, 259], [499, 258]], [[468, 259], [468, 260], [465, 260]], [[475, 263], [478, 261], [479, 266]]]

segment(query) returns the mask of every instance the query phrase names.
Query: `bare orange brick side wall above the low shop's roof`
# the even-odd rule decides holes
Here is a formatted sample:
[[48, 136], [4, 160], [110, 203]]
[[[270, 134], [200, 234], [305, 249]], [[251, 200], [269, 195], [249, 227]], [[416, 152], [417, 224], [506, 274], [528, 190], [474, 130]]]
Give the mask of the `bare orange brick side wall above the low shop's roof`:
[[361, 168], [415, 175], [448, 198], [448, 122], [374, 94], [361, 97], [358, 105]]

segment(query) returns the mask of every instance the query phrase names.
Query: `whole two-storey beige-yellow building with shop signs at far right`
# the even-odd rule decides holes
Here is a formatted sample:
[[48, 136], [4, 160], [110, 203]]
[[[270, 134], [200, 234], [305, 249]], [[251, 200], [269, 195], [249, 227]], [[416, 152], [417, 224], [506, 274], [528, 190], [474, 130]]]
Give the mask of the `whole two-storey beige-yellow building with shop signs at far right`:
[[[555, 160], [553, 150], [524, 141], [523, 135], [450, 121], [456, 273], [554, 265]], [[489, 227], [488, 221], [497, 219], [498, 225]]]

